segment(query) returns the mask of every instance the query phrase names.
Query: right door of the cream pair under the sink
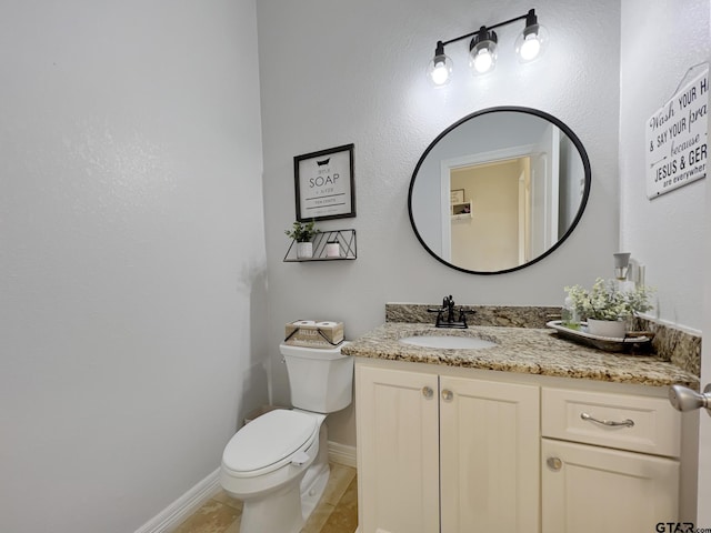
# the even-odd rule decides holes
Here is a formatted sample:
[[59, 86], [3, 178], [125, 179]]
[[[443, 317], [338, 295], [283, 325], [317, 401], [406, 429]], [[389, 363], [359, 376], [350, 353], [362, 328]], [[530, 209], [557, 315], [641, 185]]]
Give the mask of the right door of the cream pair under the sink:
[[440, 391], [442, 533], [539, 531], [540, 389], [440, 376]]

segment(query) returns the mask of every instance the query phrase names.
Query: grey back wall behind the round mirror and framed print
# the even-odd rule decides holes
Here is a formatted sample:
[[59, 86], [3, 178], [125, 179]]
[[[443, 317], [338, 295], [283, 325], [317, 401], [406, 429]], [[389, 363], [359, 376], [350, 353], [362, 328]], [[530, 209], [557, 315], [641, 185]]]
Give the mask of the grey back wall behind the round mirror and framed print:
[[[499, 33], [499, 64], [485, 79], [467, 72], [465, 42], [448, 47], [459, 68], [443, 90], [424, 69], [438, 40], [524, 14], [531, 4], [494, 0], [300, 0], [258, 2], [269, 270], [268, 340], [296, 319], [343, 320], [356, 338], [384, 320], [385, 302], [560, 304], [563, 286], [612, 275], [618, 249], [620, 2], [541, 0], [551, 43], [541, 61], [519, 66], [513, 42], [523, 22]], [[519, 27], [520, 26], [520, 27]], [[592, 46], [594, 44], [594, 46]], [[460, 118], [493, 105], [551, 113], [581, 139], [592, 191], [574, 235], [518, 272], [478, 276], [445, 268], [418, 243], [408, 187], [428, 144]], [[357, 213], [324, 229], [356, 228], [358, 260], [283, 263], [294, 219], [293, 157], [353, 142]], [[274, 401], [288, 403], [283, 365], [273, 358]], [[331, 439], [354, 444], [352, 409], [330, 418]]]

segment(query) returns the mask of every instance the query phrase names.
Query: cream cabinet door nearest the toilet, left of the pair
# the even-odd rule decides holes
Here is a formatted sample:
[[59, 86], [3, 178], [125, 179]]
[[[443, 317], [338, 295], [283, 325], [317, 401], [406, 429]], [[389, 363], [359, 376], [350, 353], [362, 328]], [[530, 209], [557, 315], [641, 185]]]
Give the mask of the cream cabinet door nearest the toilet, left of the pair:
[[438, 376], [358, 365], [360, 533], [433, 533], [439, 524]]

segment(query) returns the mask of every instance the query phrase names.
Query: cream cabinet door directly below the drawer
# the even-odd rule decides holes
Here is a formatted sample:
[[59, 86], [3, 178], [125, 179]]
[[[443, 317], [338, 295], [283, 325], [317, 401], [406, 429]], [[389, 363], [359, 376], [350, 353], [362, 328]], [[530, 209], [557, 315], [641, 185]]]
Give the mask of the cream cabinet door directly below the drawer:
[[542, 531], [650, 533], [678, 515], [679, 462], [542, 439]]

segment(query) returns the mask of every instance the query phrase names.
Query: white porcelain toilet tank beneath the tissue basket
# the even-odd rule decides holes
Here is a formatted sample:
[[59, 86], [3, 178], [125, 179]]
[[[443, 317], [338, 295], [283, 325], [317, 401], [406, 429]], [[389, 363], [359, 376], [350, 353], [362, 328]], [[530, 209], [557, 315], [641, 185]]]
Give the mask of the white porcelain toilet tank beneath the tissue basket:
[[353, 398], [353, 358], [341, 346], [316, 349], [280, 344], [287, 363], [291, 404], [316, 413], [333, 413], [350, 405]]

